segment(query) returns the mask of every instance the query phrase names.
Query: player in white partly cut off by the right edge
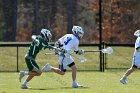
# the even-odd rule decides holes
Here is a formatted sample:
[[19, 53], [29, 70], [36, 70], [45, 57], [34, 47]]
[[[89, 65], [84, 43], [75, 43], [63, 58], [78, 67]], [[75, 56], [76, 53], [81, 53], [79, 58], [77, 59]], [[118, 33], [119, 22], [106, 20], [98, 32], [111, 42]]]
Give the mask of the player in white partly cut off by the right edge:
[[127, 84], [127, 77], [133, 73], [138, 66], [140, 66], [140, 30], [137, 30], [134, 33], [135, 36], [137, 36], [136, 42], [135, 42], [135, 50], [133, 54], [133, 60], [132, 60], [132, 66], [125, 72], [123, 77], [120, 79], [120, 82], [122, 84]]

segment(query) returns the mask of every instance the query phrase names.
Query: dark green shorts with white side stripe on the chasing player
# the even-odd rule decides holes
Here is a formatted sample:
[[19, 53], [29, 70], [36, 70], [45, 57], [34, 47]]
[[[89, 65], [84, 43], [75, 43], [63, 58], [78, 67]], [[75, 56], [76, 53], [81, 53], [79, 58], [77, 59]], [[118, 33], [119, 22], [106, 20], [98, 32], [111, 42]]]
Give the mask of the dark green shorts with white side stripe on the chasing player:
[[33, 69], [39, 70], [39, 66], [37, 65], [35, 60], [25, 57], [25, 61], [29, 71], [32, 71]]

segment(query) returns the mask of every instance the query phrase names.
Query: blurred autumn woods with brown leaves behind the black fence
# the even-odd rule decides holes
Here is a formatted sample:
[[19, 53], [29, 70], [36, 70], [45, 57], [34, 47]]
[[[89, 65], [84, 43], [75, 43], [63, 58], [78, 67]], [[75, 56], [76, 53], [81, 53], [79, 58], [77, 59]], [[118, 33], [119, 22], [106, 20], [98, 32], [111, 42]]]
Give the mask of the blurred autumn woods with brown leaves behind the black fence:
[[[71, 33], [72, 25], [80, 25], [86, 31], [82, 43], [99, 43], [98, 2], [99, 0], [2, 0], [0, 40], [30, 41], [32, 34], [39, 34], [41, 28], [48, 28], [53, 33], [53, 41], [56, 41], [62, 35]], [[13, 5], [16, 3], [15, 30], [13, 23], [16, 6]], [[140, 27], [139, 5], [139, 0], [102, 0], [104, 42], [134, 42], [133, 33]], [[3, 24], [5, 31], [2, 29]], [[10, 36], [7, 38], [7, 35]]]

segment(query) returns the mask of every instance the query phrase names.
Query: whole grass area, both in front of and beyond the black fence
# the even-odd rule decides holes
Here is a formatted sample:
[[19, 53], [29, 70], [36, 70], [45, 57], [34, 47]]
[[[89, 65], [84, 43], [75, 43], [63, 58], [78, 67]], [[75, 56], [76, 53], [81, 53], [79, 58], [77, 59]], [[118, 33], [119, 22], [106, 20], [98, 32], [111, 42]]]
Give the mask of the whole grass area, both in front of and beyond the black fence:
[[[80, 47], [80, 49], [98, 50], [98, 47]], [[28, 47], [19, 47], [19, 70], [27, 70], [24, 62], [27, 50]], [[107, 55], [106, 67], [130, 67], [134, 48], [113, 47], [113, 50], [113, 54]], [[0, 47], [0, 51], [0, 71], [16, 71], [16, 47]], [[46, 63], [57, 66], [57, 57], [54, 55], [45, 56], [46, 52], [52, 53], [46, 50], [37, 56], [39, 66], [42, 67]], [[77, 81], [84, 87], [71, 88], [70, 72], [67, 72], [65, 76], [48, 72], [43, 73], [40, 77], [35, 77], [29, 83], [31, 89], [22, 90], [20, 89], [21, 83], [18, 81], [18, 73], [0, 72], [0, 93], [139, 93], [139, 71], [129, 77], [127, 85], [122, 85], [119, 79], [126, 69], [106, 69], [105, 72], [99, 72], [99, 53], [85, 53], [78, 57], [88, 59], [85, 63], [80, 63], [75, 59], [78, 67]]]

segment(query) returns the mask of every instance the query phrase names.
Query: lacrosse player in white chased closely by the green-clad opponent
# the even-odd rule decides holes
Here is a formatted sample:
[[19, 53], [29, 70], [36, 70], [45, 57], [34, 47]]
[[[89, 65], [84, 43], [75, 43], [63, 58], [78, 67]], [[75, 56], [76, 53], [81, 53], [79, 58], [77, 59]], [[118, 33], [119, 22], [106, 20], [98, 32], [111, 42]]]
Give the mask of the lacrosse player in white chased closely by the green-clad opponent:
[[66, 67], [70, 67], [72, 69], [72, 87], [77, 88], [81, 85], [76, 82], [77, 68], [71, 54], [73, 52], [79, 55], [84, 53], [84, 50], [78, 49], [79, 40], [83, 37], [84, 30], [80, 26], [73, 26], [72, 32], [73, 34], [66, 34], [55, 43], [55, 46], [61, 49], [61, 51], [56, 50], [56, 54], [58, 55], [59, 68], [55, 68], [49, 64], [46, 64], [44, 69], [45, 71], [52, 70], [57, 74], [64, 75], [66, 72]]

